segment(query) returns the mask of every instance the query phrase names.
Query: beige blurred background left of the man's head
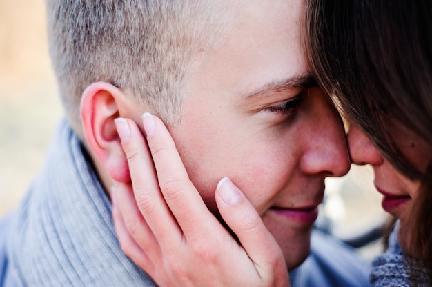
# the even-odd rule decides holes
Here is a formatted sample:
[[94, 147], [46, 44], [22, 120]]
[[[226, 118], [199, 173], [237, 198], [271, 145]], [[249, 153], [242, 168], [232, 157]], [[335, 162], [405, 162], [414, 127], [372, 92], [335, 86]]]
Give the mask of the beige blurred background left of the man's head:
[[43, 0], [0, 0], [0, 215], [42, 165], [62, 111]]

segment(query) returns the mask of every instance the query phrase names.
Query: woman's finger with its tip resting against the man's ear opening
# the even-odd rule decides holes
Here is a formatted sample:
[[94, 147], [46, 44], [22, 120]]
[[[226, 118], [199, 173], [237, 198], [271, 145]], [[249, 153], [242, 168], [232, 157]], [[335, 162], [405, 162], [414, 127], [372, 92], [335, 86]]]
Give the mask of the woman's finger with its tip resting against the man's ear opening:
[[128, 159], [139, 212], [146, 219], [156, 239], [160, 240], [159, 244], [177, 246], [183, 235], [161, 195], [153, 159], [141, 131], [130, 119], [116, 119], [115, 123]]

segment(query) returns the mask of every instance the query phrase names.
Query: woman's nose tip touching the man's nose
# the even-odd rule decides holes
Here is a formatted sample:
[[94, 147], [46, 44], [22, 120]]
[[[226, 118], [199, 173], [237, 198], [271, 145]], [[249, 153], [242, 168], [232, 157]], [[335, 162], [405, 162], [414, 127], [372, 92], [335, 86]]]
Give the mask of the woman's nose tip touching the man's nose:
[[382, 163], [380, 152], [378, 152], [371, 140], [357, 126], [351, 124], [347, 138], [351, 161], [354, 164], [377, 165]]

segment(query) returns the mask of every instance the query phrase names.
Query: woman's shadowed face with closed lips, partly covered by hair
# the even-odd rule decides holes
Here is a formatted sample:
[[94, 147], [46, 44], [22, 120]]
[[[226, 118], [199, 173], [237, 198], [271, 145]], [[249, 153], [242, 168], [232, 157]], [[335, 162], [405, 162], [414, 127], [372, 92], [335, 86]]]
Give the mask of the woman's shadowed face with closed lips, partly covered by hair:
[[[431, 160], [431, 150], [426, 141], [409, 128], [393, 121], [389, 127], [395, 142], [411, 164], [426, 171]], [[354, 164], [371, 164], [375, 173], [375, 188], [383, 195], [382, 208], [400, 219], [399, 239], [402, 248], [409, 246], [409, 215], [415, 209], [420, 180], [409, 179], [397, 171], [373, 146], [370, 139], [357, 126], [351, 125], [348, 131], [348, 146]], [[401, 240], [402, 239], [402, 240]], [[404, 248], [406, 250], [406, 248]]]

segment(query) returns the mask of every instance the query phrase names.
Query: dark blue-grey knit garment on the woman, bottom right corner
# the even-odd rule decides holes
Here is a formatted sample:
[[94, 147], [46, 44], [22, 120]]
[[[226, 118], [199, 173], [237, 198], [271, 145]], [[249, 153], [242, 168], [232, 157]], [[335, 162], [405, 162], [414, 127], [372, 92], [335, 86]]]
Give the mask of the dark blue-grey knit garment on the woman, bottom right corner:
[[413, 268], [413, 270], [416, 270], [416, 274], [421, 274], [415, 277], [416, 286], [432, 286], [425, 270], [422, 269], [421, 263], [403, 254], [402, 248], [397, 241], [398, 226], [399, 224], [396, 224], [393, 232], [391, 232], [389, 248], [372, 262], [371, 283], [375, 287], [414, 286], [410, 269]]

